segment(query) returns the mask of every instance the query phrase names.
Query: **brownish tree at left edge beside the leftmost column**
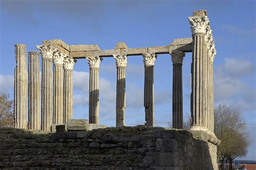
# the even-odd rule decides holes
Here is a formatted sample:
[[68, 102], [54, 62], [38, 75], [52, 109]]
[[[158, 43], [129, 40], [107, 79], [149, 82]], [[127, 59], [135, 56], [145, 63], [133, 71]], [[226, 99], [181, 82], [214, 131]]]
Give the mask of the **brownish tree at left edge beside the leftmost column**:
[[5, 93], [0, 93], [0, 127], [14, 127], [14, 101]]

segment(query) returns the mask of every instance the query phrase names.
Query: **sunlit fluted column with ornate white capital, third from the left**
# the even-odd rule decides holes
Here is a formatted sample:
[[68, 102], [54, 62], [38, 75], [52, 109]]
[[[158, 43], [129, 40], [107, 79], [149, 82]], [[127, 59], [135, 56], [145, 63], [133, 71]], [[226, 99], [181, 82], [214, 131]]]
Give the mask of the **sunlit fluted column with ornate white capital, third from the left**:
[[57, 51], [50, 45], [40, 45], [42, 55], [42, 111], [41, 130], [50, 131], [52, 124], [52, 56]]

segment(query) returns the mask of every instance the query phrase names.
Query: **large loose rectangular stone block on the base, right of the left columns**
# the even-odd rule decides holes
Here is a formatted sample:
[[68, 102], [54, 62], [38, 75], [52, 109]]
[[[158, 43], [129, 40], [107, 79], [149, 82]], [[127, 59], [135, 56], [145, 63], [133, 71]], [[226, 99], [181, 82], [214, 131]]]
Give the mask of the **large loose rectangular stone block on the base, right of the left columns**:
[[87, 119], [68, 119], [66, 129], [68, 131], [86, 131], [88, 125]]

